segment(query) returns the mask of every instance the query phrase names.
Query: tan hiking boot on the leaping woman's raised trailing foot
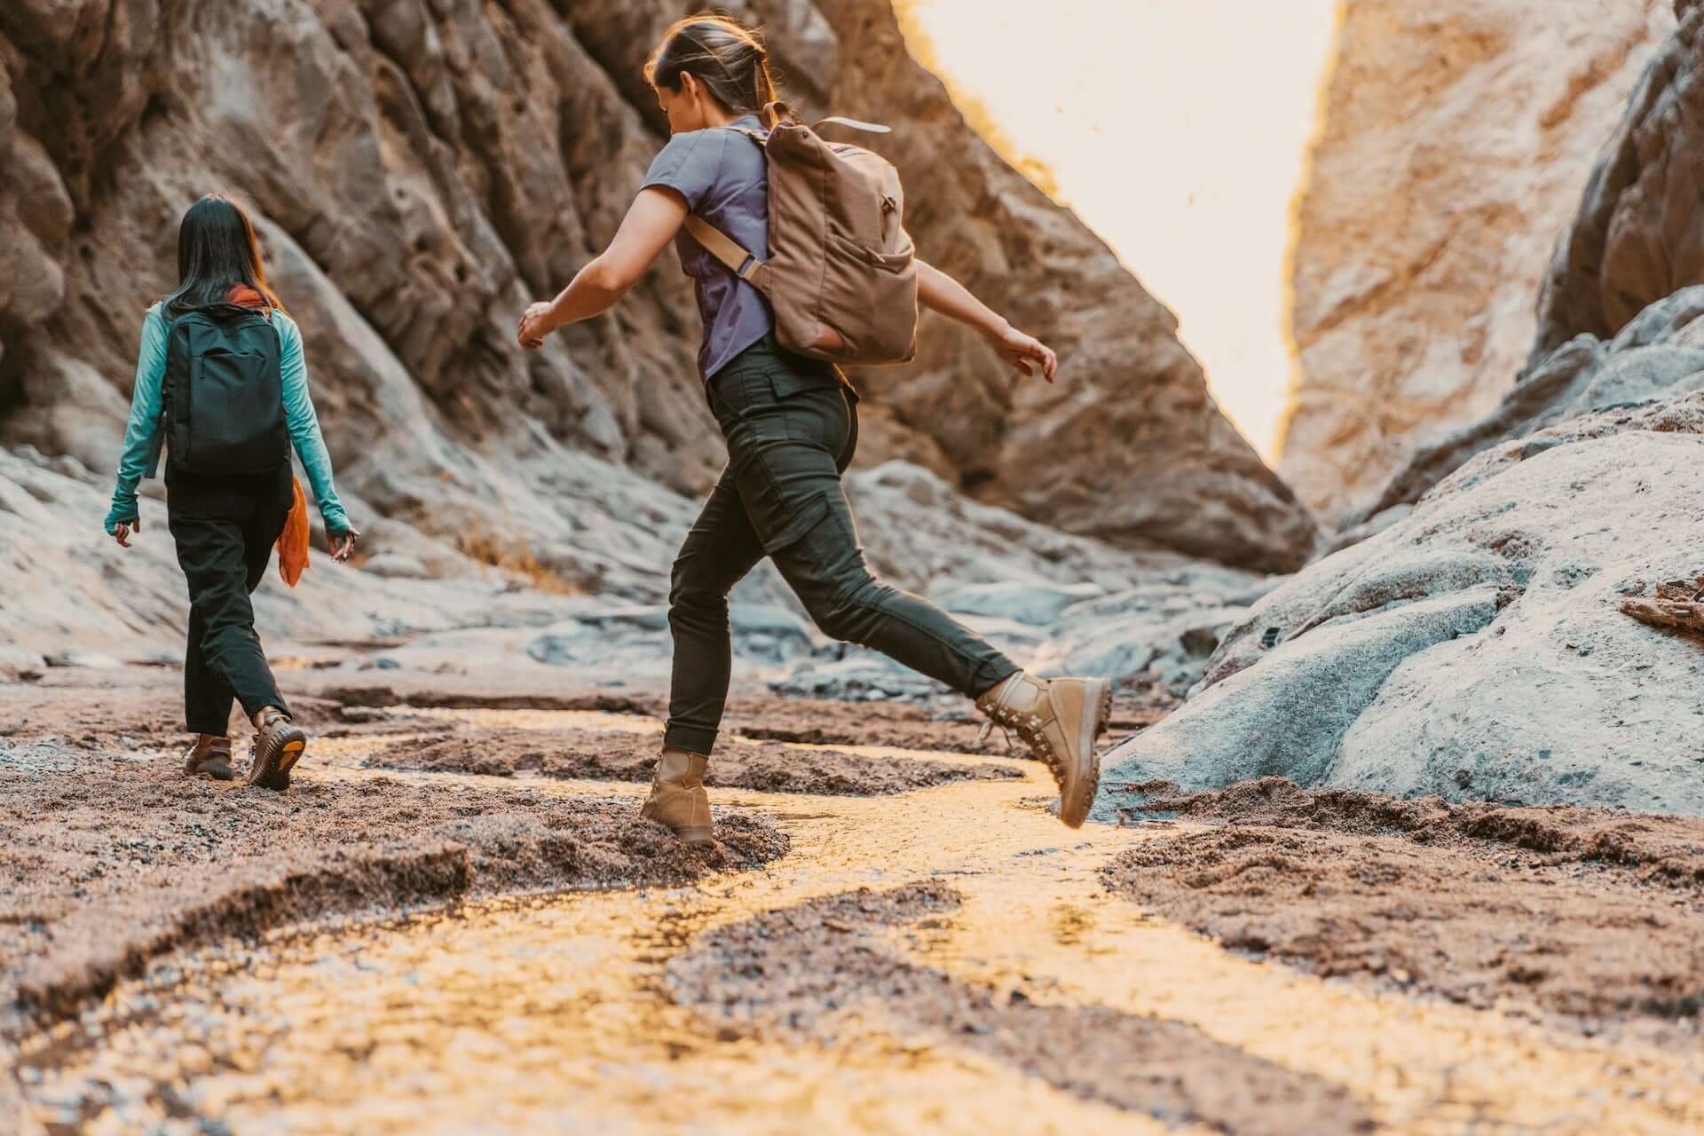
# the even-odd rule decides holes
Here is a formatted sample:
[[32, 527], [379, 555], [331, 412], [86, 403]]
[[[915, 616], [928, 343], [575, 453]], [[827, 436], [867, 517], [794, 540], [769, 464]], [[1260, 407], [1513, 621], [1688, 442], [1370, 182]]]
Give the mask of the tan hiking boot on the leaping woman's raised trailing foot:
[[1016, 729], [1053, 772], [1060, 787], [1060, 819], [1080, 828], [1101, 783], [1094, 743], [1113, 715], [1113, 685], [1104, 678], [1033, 678], [1022, 671], [976, 698], [988, 715], [982, 736], [995, 726]]

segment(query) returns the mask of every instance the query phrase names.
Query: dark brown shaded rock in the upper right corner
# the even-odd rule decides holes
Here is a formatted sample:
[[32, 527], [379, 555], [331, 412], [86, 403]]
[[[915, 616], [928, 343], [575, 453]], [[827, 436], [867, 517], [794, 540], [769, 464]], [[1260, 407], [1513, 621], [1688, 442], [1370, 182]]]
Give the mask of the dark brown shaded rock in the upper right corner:
[[1680, 26], [1646, 66], [1556, 247], [1535, 364], [1576, 336], [1609, 339], [1648, 305], [1704, 283], [1704, 5], [1673, 7]]

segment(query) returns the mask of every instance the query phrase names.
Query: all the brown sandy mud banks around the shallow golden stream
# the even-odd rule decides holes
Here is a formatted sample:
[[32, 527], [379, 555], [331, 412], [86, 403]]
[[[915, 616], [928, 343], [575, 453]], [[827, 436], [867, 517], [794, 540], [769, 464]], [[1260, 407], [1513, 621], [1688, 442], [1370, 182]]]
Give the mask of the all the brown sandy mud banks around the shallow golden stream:
[[[327, 756], [315, 765], [310, 746], [281, 795], [181, 775], [186, 739], [170, 669], [66, 671], [0, 686], [9, 806], [0, 1000], [10, 1005], [0, 1013], [0, 1059], [177, 949], [467, 896], [678, 886], [777, 860], [794, 865], [792, 877], [809, 875], [801, 841], [833, 818], [801, 811], [811, 795], [857, 806], [855, 797], [932, 785], [1009, 792], [1000, 787], [1026, 768], [792, 741], [975, 753], [973, 724], [930, 707], [743, 697], [734, 737], [712, 765], [714, 783], [734, 795], [717, 807], [717, 845], [692, 853], [636, 816], [630, 789], [602, 795], [538, 780], [644, 780], [658, 743], [654, 693], [516, 691], [496, 697], [516, 712], [482, 715], [470, 709], [481, 705], [477, 690], [305, 678], [291, 673], [286, 691]], [[579, 727], [584, 719], [537, 709], [627, 715], [603, 720], [630, 729]], [[1152, 710], [1133, 700], [1120, 714], [1135, 729]], [[244, 741], [239, 731], [239, 754]], [[797, 794], [777, 818], [755, 804], [774, 792]], [[917, 814], [908, 824], [930, 833], [925, 843], [949, 841], [929, 828], [937, 819]], [[1408, 802], [1280, 780], [1193, 795], [1135, 787], [1126, 821], [1152, 838], [1085, 863], [1094, 901], [1072, 901], [1058, 918], [1092, 923], [1096, 903], [1131, 901], [1125, 909], [1140, 908], [1142, 920], [1380, 996], [1697, 1047], [1704, 821]], [[804, 826], [791, 843], [786, 824]], [[1060, 848], [1019, 855], [1041, 857], [1039, 865], [1045, 853]], [[879, 863], [883, 877], [888, 858]], [[659, 981], [716, 1041], [855, 1049], [874, 1029], [968, 1051], [1091, 1109], [1223, 1133], [1370, 1131], [1377, 1107], [1360, 1087], [1230, 1044], [1203, 1022], [1111, 1000], [1062, 1003], [1046, 983], [990, 983], [956, 969], [937, 947], [973, 903], [988, 911], [980, 874], [961, 865], [900, 887], [905, 875], [791, 898], [671, 942]], [[745, 879], [770, 875], [789, 872]], [[1065, 944], [1067, 930], [1051, 933]], [[5, 1105], [0, 1092], [0, 1121]]]

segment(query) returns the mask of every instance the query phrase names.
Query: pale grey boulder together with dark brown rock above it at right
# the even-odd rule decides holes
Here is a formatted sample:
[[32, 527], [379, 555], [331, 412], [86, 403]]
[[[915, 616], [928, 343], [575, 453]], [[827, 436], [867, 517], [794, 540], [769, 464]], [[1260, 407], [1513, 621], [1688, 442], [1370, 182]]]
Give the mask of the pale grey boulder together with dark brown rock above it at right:
[[[1125, 783], [1273, 773], [1704, 812], [1685, 729], [1704, 714], [1704, 5], [1675, 12], [1556, 245], [1518, 382], [1414, 448], [1351, 514], [1370, 536], [1220, 639], [1189, 702], [1106, 760], [1102, 816]], [[1665, 611], [1685, 618], [1653, 627]]]

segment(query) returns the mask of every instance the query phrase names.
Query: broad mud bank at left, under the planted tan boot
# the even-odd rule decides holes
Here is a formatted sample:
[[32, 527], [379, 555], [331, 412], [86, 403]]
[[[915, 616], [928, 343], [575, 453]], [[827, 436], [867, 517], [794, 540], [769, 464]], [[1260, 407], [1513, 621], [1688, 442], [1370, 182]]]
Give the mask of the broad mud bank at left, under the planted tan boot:
[[[312, 761], [312, 749], [310, 749]], [[682, 848], [630, 799], [523, 785], [334, 777], [286, 794], [53, 743], [0, 743], [0, 991], [75, 1012], [169, 950], [319, 915], [521, 889], [678, 884], [779, 857], [765, 819], [722, 811]]]

